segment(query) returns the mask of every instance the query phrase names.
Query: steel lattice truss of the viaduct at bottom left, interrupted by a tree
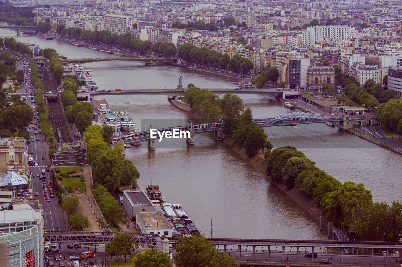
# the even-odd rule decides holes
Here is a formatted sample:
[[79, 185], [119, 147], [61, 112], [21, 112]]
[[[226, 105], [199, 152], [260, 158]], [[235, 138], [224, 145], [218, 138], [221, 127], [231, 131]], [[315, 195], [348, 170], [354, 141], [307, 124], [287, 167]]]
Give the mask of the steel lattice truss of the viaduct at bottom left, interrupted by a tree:
[[[115, 238], [114, 232], [84, 231], [45, 231], [45, 242], [109, 244]], [[155, 234], [136, 233], [133, 241], [144, 246], [151, 246], [162, 251], [162, 238]]]

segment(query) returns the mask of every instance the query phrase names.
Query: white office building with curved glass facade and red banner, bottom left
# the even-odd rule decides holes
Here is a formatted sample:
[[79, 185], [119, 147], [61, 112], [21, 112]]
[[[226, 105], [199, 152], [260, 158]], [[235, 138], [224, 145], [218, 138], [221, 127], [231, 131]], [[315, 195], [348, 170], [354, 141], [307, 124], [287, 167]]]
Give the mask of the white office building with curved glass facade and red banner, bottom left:
[[[18, 203], [18, 202], [17, 202]], [[43, 266], [43, 218], [39, 200], [0, 210], [0, 265]]]

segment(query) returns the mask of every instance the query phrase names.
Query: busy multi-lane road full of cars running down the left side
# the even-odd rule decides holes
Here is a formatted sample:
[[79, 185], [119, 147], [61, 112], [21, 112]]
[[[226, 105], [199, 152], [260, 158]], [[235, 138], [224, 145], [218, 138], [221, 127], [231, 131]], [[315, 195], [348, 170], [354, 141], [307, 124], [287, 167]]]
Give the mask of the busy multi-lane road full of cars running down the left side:
[[[17, 71], [23, 69], [21, 64], [17, 64]], [[25, 68], [24, 72], [27, 75], [27, 83], [31, 81], [31, 77], [28, 73], [29, 67]], [[27, 98], [27, 104], [31, 105], [33, 104], [33, 110], [36, 109], [35, 107], [35, 97], [34, 100], [31, 100], [31, 97], [33, 95], [27, 94], [29, 89], [29, 84], [25, 84], [26, 82], [23, 83], [21, 90], [18, 90], [17, 93], [21, 95], [21, 98]], [[31, 90], [32, 91], [32, 90]], [[35, 112], [35, 111], [34, 111]], [[45, 176], [46, 181], [49, 182], [50, 180], [50, 174], [49, 172], [45, 172], [45, 175], [41, 174], [42, 169], [47, 169], [48, 168], [48, 157], [45, 152], [45, 146], [47, 144], [44, 141], [44, 136], [42, 134], [39, 134], [39, 127], [38, 127], [38, 119], [33, 119], [33, 123], [30, 124], [32, 129], [29, 129], [29, 136], [33, 136], [34, 138], [31, 139], [30, 144], [28, 145], [28, 151], [29, 151], [29, 156], [33, 157], [33, 160], [37, 162], [38, 166], [30, 166], [29, 167], [29, 172], [31, 174], [31, 177], [33, 174], [35, 176], [39, 174], [39, 176]], [[36, 129], [35, 129], [36, 128]], [[35, 131], [38, 133], [37, 136], [35, 136]], [[38, 141], [36, 141], [38, 139]], [[31, 154], [31, 151], [34, 153]], [[44, 157], [45, 159], [42, 159]], [[39, 203], [42, 204], [43, 208], [43, 221], [45, 225], [46, 230], [56, 230], [57, 226], [59, 227], [59, 230], [68, 230], [66, 229], [65, 223], [64, 223], [64, 218], [63, 214], [60, 210], [60, 205], [57, 202], [57, 198], [50, 198], [50, 202], [46, 201], [45, 196], [43, 194], [43, 186], [42, 186], [42, 181], [40, 180], [39, 177], [32, 177], [32, 188], [33, 188], [33, 193], [38, 192], [39, 194]], [[35, 196], [33, 196], [35, 197]]]

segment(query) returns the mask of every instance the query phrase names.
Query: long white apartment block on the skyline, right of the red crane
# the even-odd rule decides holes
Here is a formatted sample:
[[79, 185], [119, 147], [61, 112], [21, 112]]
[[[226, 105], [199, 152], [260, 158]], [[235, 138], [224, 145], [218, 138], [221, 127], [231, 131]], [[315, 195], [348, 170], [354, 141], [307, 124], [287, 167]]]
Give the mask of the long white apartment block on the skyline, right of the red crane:
[[311, 26], [303, 32], [303, 44], [314, 46], [321, 38], [330, 39], [349, 39], [355, 33], [355, 27], [352, 26]]

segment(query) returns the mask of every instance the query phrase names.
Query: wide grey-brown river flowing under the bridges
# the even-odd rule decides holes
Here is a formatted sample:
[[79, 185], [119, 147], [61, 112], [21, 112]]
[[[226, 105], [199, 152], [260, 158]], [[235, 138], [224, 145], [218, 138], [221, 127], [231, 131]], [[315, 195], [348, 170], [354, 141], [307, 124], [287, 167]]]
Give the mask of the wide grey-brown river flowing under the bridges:
[[[0, 29], [0, 36], [29, 40], [41, 48], [54, 48], [68, 58], [109, 56], [56, 40], [16, 36], [15, 31]], [[162, 63], [144, 66], [113, 61], [88, 63], [84, 68], [92, 70], [100, 89], [176, 87], [180, 75], [183, 75], [184, 85], [194, 83], [203, 88], [237, 85], [236, 79], [231, 77]], [[291, 112], [265, 94], [240, 96], [244, 106], [252, 109], [254, 118]], [[123, 109], [129, 113], [137, 131], [148, 127], [148, 119], [155, 119], [156, 124], [168, 124], [169, 119], [187, 123], [191, 119], [188, 113], [170, 104], [166, 96], [114, 95], [106, 99], [112, 110]], [[141, 125], [142, 120], [144, 125]], [[326, 124], [268, 127], [265, 131], [274, 148], [295, 146], [341, 182], [364, 183], [374, 201], [402, 201], [402, 162], [398, 154]], [[184, 140], [156, 142], [156, 151], [148, 151], [143, 143], [127, 149], [125, 156], [139, 170], [141, 188], [159, 184], [162, 196], [170, 203], [182, 204], [197, 228], [207, 236], [211, 217], [214, 237], [323, 239], [326, 236], [319, 231], [316, 219], [223, 142], [215, 141], [212, 134], [195, 136], [194, 146]]]

